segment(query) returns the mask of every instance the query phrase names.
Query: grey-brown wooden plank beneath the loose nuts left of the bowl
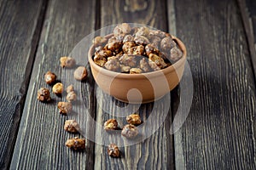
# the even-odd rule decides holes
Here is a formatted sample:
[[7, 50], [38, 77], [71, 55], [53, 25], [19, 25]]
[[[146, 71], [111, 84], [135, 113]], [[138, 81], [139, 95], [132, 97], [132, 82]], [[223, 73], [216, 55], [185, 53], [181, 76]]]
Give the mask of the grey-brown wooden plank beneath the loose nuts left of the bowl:
[[[37, 91], [41, 87], [50, 88], [44, 82], [44, 73], [53, 71], [64, 87], [73, 83], [78, 92], [79, 100], [74, 105], [73, 114], [83, 114], [81, 111], [83, 107], [79, 106], [81, 103], [94, 108], [92, 77], [88, 77], [85, 82], [73, 81], [74, 70], [62, 69], [59, 59], [71, 53], [76, 43], [94, 30], [95, 5], [94, 1], [83, 0], [49, 1], [11, 169], [90, 169], [93, 167], [94, 144], [92, 142], [86, 140], [86, 150], [81, 152], [70, 150], [65, 146], [67, 139], [80, 136], [63, 130], [65, 120], [72, 114], [70, 116], [59, 114], [57, 103], [65, 101], [66, 95], [63, 94], [59, 98], [51, 92], [51, 102], [44, 104], [37, 100]], [[85, 65], [79, 60], [77, 62], [79, 65]], [[80, 88], [76, 88], [78, 86]], [[83, 90], [85, 95], [82, 96], [79, 90]], [[93, 117], [93, 112], [90, 114]], [[90, 127], [90, 123], [84, 129], [86, 132], [94, 132], [94, 127]]]

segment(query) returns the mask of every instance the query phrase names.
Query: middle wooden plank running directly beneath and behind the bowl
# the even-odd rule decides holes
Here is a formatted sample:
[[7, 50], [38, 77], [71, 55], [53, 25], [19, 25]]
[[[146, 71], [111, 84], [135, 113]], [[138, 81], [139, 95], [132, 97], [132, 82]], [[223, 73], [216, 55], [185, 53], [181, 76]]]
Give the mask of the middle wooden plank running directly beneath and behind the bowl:
[[[154, 26], [160, 30], [167, 31], [166, 20], [166, 2], [159, 3], [158, 1], [101, 1], [102, 26], [110, 26], [122, 22], [134, 22]], [[105, 8], [105, 7], [111, 8]], [[109, 118], [116, 118], [119, 122], [119, 127], [123, 127], [125, 122], [125, 115], [123, 107], [127, 107], [122, 102], [115, 99], [109, 99], [108, 95], [103, 94], [101, 89], [96, 88], [97, 110], [96, 121], [100, 126]], [[112, 101], [112, 102], [111, 102]], [[129, 111], [137, 111], [144, 122], [155, 126], [156, 122], [160, 123], [160, 116], [163, 115], [166, 105], [171, 105], [171, 102], [165, 103], [165, 99], [150, 103], [146, 105], [131, 105]], [[158, 118], [150, 123], [148, 116], [153, 113], [152, 108], [157, 107], [155, 113]], [[119, 114], [123, 114], [120, 116]], [[172, 120], [171, 111], [168, 112], [166, 121], [152, 134], [148, 139], [138, 144], [131, 144], [127, 146], [126, 141], [120, 138], [120, 134], [106, 134], [102, 127], [96, 127], [96, 141], [104, 142], [105, 145], [96, 144], [95, 146], [95, 169], [173, 169], [174, 157], [172, 149], [172, 136], [169, 134]], [[151, 127], [148, 127], [150, 129]], [[116, 141], [120, 145], [121, 158], [111, 158], [107, 153], [108, 142]]]

